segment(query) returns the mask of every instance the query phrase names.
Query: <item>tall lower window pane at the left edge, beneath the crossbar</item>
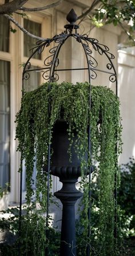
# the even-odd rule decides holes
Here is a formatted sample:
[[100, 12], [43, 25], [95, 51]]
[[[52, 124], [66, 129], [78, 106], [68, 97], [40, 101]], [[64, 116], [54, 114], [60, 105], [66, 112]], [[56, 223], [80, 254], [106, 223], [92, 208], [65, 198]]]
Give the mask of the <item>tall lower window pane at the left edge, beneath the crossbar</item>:
[[0, 186], [10, 177], [10, 62], [0, 60]]

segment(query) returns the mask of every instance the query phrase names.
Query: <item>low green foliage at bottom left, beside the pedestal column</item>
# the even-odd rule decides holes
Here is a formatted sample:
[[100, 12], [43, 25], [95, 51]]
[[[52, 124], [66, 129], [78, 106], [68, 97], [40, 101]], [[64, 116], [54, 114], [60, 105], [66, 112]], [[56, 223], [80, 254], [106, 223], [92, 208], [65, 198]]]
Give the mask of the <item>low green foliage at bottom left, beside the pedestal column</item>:
[[[21, 255], [22, 256], [44, 256], [45, 249], [49, 244], [49, 256], [58, 256], [59, 251], [59, 233], [49, 228], [49, 239], [46, 241], [45, 216], [40, 213], [26, 214], [26, 207], [23, 209], [21, 221]], [[8, 219], [4, 214], [8, 214]], [[1, 245], [2, 256], [18, 256], [19, 243], [19, 208], [11, 208], [3, 212], [3, 218], [0, 220], [2, 231], [10, 231], [9, 241]]]

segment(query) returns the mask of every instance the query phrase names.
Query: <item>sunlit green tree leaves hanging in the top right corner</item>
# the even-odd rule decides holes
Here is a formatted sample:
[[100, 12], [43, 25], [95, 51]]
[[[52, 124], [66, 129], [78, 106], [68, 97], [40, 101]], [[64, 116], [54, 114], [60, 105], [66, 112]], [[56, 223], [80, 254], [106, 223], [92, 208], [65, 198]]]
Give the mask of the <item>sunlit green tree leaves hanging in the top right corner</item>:
[[99, 23], [104, 25], [113, 23], [114, 26], [120, 25], [134, 45], [135, 2], [131, 0], [101, 0], [97, 1], [97, 3], [99, 3], [99, 7], [94, 10], [93, 17], [96, 19], [94, 25], [97, 24], [97, 27]]

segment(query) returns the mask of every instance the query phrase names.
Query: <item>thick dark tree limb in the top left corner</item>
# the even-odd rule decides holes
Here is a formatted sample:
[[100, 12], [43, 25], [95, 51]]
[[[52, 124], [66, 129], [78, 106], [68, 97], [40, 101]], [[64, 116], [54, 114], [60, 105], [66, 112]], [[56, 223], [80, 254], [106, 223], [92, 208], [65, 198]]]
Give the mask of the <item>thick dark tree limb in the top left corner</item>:
[[24, 3], [28, 0], [13, 0], [11, 2], [5, 2], [3, 5], [0, 5], [0, 14], [10, 14], [18, 10]]

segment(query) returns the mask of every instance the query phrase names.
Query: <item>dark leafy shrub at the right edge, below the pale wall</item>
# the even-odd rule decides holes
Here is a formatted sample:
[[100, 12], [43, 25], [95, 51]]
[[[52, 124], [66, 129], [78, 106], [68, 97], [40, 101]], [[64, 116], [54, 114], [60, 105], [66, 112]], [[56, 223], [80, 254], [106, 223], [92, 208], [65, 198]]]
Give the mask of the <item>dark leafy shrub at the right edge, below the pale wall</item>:
[[121, 186], [118, 190], [118, 203], [123, 211], [122, 231], [124, 237], [135, 236], [135, 161], [130, 158], [129, 163], [120, 167]]

